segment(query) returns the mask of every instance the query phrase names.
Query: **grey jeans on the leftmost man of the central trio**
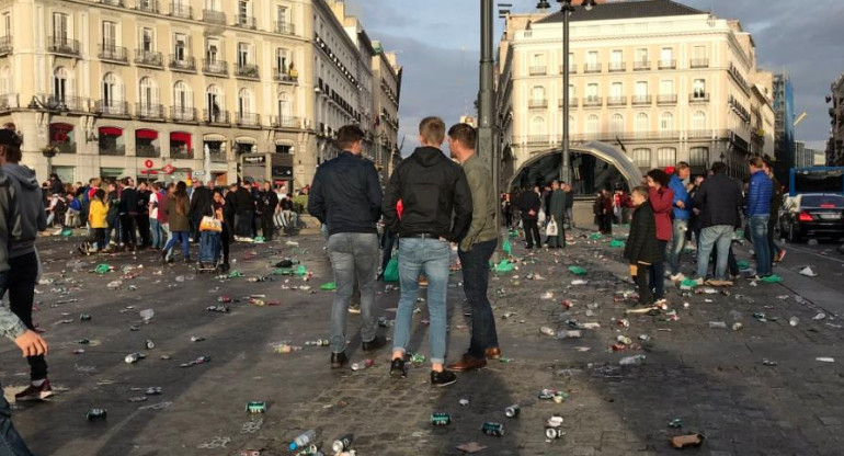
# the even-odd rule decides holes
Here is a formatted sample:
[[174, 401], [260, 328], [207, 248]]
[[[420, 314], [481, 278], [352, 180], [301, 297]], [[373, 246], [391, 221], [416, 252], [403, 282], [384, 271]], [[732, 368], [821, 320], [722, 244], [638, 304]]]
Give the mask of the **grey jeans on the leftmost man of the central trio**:
[[378, 328], [375, 305], [375, 274], [378, 269], [378, 235], [339, 232], [328, 238], [328, 254], [334, 272], [337, 293], [331, 306], [331, 352], [345, 350], [349, 303], [355, 281], [361, 286], [361, 339], [370, 342]]

